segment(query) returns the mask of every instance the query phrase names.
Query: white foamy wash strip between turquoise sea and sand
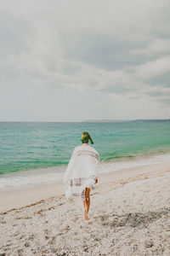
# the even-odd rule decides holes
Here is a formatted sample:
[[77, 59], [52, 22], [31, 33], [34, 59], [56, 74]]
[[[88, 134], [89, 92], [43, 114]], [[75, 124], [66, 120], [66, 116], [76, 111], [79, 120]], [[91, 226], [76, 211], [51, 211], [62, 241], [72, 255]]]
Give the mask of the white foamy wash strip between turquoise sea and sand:
[[[128, 168], [170, 163], [170, 153], [138, 155], [131, 158], [101, 161], [99, 174], [126, 170]], [[5, 193], [36, 189], [62, 183], [66, 165], [49, 168], [31, 169], [20, 172], [8, 172], [0, 175], [0, 197]]]

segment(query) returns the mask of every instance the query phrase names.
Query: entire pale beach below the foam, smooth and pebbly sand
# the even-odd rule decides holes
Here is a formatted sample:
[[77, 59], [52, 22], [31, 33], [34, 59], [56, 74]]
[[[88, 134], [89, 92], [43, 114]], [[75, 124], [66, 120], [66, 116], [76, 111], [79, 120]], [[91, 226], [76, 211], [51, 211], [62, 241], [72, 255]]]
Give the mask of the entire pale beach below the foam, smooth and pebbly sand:
[[3, 195], [0, 255], [170, 255], [169, 183], [169, 163], [100, 175], [88, 221], [62, 184]]

